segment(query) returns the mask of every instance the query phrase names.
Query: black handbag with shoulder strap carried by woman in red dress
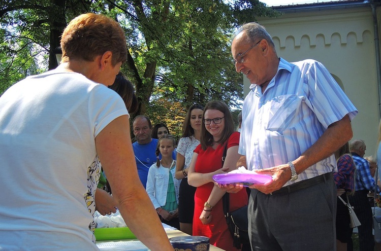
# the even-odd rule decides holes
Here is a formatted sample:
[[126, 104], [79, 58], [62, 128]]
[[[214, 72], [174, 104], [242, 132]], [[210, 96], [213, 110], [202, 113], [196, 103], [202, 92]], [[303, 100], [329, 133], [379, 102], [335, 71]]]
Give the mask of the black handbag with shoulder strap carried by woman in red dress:
[[[228, 144], [226, 142], [224, 154], [222, 157], [223, 166], [227, 153], [227, 145]], [[240, 207], [234, 211], [230, 211], [229, 197], [229, 193], [225, 193], [223, 196], [223, 209], [226, 223], [228, 224], [229, 231], [233, 236], [233, 246], [237, 249], [241, 249], [241, 244], [244, 244], [243, 249], [249, 249], [250, 241], [248, 232], [249, 221], [247, 218], [247, 205]]]

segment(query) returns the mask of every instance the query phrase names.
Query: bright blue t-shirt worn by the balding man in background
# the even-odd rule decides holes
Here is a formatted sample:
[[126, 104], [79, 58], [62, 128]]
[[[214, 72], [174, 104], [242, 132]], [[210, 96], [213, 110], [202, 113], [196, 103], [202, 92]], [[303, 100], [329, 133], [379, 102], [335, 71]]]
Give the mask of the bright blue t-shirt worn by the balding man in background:
[[147, 185], [147, 176], [149, 167], [156, 163], [156, 146], [158, 139], [152, 138], [151, 142], [148, 144], [140, 145], [138, 142], [134, 142], [132, 147], [135, 153], [136, 165], [138, 166], [138, 174], [140, 181], [142, 182], [144, 188]]

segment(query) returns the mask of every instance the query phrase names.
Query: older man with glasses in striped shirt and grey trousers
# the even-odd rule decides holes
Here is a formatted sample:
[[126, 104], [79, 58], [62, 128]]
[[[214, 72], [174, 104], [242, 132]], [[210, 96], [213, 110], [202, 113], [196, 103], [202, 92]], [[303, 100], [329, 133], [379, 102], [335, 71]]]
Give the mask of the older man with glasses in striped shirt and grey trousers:
[[258, 23], [238, 30], [232, 54], [251, 83], [237, 166], [272, 175], [271, 182], [250, 186], [252, 250], [335, 250], [333, 153], [352, 138], [356, 108], [321, 63], [278, 58]]

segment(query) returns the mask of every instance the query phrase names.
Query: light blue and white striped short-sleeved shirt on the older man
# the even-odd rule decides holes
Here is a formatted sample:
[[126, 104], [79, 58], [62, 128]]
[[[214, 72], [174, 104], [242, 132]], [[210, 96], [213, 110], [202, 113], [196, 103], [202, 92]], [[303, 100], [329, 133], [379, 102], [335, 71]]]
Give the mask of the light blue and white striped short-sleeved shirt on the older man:
[[[297, 159], [330, 124], [357, 114], [324, 65], [311, 59], [289, 63], [280, 58], [265, 92], [255, 84], [250, 88], [243, 103], [238, 151], [246, 156], [249, 170]], [[332, 155], [300, 173], [297, 182], [336, 170]]]

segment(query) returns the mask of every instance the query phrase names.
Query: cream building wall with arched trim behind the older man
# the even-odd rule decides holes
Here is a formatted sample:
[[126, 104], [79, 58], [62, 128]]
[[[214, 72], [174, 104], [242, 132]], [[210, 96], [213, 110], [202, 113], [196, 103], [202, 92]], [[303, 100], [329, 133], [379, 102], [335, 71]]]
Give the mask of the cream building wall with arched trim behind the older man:
[[[290, 62], [312, 58], [327, 67], [359, 111], [352, 121], [353, 138], [364, 139], [366, 155], [374, 155], [380, 116], [370, 7], [285, 14], [258, 22], [272, 35], [279, 57]], [[246, 95], [247, 79], [244, 84]]]

